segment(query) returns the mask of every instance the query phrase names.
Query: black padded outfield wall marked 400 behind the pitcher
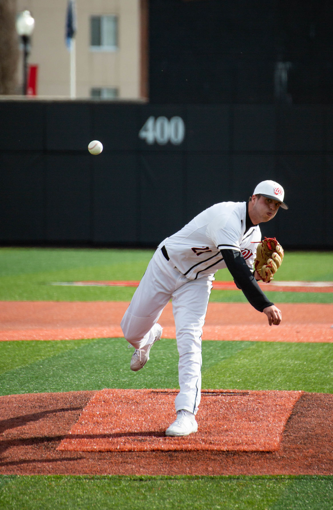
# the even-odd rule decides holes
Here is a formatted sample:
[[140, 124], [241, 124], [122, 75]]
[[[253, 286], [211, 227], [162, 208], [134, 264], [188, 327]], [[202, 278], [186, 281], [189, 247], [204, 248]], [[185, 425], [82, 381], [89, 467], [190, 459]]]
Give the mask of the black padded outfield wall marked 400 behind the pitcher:
[[263, 234], [333, 246], [332, 106], [3, 100], [0, 119], [3, 244], [153, 246], [274, 179], [290, 209]]

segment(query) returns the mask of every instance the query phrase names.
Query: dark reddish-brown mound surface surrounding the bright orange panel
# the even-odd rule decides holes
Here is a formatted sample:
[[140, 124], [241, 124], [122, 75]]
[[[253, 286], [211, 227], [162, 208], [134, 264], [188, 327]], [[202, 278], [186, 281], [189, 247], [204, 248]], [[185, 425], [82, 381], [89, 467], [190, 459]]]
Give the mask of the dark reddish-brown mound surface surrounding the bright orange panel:
[[57, 450], [95, 393], [0, 397], [0, 473], [333, 474], [333, 395], [301, 394], [274, 452]]

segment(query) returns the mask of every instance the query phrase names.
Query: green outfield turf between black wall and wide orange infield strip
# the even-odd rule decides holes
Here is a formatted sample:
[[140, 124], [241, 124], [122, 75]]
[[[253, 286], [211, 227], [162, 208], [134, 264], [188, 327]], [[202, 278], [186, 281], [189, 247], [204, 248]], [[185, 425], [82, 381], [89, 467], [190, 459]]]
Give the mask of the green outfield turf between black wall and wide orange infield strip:
[[[131, 287], [62, 287], [54, 282], [140, 280], [153, 250], [0, 248], [0, 300], [129, 301]], [[333, 281], [332, 252], [286, 253], [276, 281]], [[217, 280], [230, 281], [227, 269]], [[332, 293], [268, 292], [273, 302], [331, 303]], [[211, 301], [245, 302], [241, 291], [213, 290]]]

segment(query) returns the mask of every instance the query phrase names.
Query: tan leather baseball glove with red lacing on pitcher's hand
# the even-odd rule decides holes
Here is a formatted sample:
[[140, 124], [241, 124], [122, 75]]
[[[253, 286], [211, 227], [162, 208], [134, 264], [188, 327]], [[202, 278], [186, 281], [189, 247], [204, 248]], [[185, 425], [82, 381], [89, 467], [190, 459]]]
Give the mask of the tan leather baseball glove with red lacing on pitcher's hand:
[[275, 237], [265, 237], [257, 246], [255, 269], [262, 281], [269, 283], [283, 261], [283, 248]]

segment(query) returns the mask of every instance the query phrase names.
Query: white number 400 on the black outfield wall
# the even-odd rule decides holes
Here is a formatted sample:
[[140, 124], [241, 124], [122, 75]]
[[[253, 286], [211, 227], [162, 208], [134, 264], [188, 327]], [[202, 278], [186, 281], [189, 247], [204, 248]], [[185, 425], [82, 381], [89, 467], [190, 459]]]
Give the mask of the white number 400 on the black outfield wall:
[[169, 141], [174, 145], [179, 145], [184, 140], [185, 124], [181, 117], [172, 117], [168, 120], [166, 117], [149, 117], [142, 126], [139, 137], [146, 140], [149, 145], [157, 142], [159, 145], [165, 145]]

